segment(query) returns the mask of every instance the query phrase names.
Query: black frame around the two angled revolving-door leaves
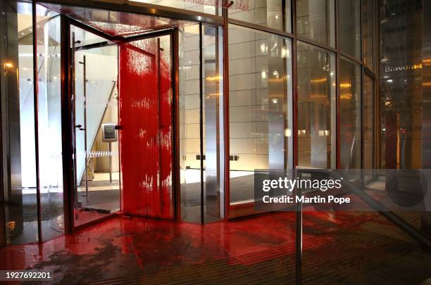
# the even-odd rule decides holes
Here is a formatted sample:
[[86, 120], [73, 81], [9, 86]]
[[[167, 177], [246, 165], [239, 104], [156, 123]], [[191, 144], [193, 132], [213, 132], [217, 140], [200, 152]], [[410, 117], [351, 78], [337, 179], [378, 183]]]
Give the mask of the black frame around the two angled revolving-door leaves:
[[[70, 42], [70, 25], [79, 27], [82, 30], [91, 32], [103, 37], [109, 42], [115, 44], [133, 42], [139, 39], [148, 39], [152, 37], [161, 37], [165, 35], [170, 36], [171, 45], [171, 82], [172, 82], [172, 124], [173, 124], [173, 136], [172, 136], [172, 165], [173, 165], [173, 206], [174, 206], [174, 217], [173, 220], [180, 219], [180, 207], [179, 207], [179, 197], [180, 197], [180, 158], [179, 158], [179, 116], [178, 116], [178, 36], [177, 28], [158, 30], [156, 32], [148, 32], [145, 34], [137, 34], [131, 37], [118, 37], [111, 36], [96, 30], [93, 27], [81, 23], [68, 16], [61, 14], [61, 127], [62, 131], [62, 152], [63, 152], [63, 197], [64, 197], [64, 220], [65, 220], [65, 233], [70, 234], [76, 229], [81, 227], [87, 227], [91, 224], [101, 222], [102, 220], [113, 217], [114, 214], [107, 215], [98, 220], [82, 224], [75, 227], [74, 224], [74, 191], [75, 191], [75, 174], [74, 174], [74, 163], [73, 163], [73, 153], [74, 153], [74, 129], [73, 124], [73, 99], [72, 99], [72, 84], [73, 82], [73, 70], [72, 70], [72, 57], [73, 51]], [[120, 60], [120, 58], [118, 58]], [[121, 160], [121, 158], [120, 158]], [[120, 195], [122, 195], [122, 190], [120, 186]], [[121, 197], [120, 197], [121, 199]]]

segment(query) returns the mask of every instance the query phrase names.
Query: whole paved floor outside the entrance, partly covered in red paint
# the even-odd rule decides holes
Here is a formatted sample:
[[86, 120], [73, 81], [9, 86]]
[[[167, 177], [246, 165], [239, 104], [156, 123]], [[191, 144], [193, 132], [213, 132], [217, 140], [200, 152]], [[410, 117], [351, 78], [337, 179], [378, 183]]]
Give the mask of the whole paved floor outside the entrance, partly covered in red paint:
[[[419, 215], [405, 218], [414, 225]], [[295, 213], [201, 226], [113, 217], [70, 236], [0, 248], [1, 270], [61, 284], [294, 284]], [[377, 213], [305, 212], [304, 284], [419, 284], [431, 253]]]

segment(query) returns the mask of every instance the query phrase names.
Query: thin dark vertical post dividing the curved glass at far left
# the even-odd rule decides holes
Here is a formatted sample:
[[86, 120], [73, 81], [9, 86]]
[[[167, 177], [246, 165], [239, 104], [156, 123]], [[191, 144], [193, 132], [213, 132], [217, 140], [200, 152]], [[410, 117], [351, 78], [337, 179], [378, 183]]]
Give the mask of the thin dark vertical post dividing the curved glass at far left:
[[32, 1], [32, 29], [33, 29], [33, 95], [35, 111], [35, 153], [36, 153], [36, 203], [37, 203], [37, 239], [42, 242], [42, 205], [40, 200], [39, 177], [39, 98], [37, 96], [37, 19], [36, 1]]

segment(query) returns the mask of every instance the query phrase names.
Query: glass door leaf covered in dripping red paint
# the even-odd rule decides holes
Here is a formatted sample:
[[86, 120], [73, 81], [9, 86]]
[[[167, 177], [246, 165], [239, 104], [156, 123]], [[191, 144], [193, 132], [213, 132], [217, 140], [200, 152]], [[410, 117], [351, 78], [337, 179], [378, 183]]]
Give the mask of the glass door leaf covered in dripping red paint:
[[174, 218], [170, 35], [120, 44], [123, 211]]

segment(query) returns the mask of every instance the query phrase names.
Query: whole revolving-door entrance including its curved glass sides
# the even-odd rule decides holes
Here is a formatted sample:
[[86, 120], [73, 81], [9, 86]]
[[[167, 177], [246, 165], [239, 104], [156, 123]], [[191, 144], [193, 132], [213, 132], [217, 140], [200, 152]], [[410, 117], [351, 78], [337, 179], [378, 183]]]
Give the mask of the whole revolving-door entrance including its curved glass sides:
[[223, 18], [8, 2], [9, 38], [22, 37], [1, 93], [20, 99], [8, 106], [19, 144], [0, 189], [0, 246], [114, 213], [223, 220]]

